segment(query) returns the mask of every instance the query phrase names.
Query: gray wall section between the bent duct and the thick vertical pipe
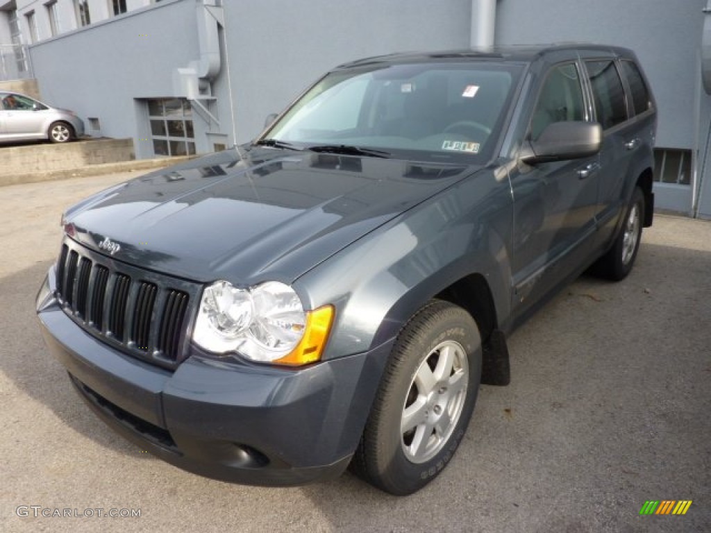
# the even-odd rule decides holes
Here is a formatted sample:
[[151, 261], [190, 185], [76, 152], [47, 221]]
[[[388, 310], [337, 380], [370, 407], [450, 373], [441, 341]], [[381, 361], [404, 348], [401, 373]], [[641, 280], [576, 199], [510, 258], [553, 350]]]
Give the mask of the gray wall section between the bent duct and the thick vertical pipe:
[[[467, 48], [471, 0], [225, 2], [237, 141], [326, 70], [407, 50]], [[224, 102], [223, 102], [224, 105]], [[228, 109], [222, 109], [226, 114]]]

